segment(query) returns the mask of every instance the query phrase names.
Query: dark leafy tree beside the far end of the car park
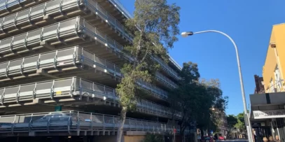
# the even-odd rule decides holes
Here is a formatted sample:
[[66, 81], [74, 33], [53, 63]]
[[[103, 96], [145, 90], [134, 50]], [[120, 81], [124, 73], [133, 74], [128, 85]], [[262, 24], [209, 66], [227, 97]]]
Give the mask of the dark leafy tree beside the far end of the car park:
[[169, 98], [176, 102], [172, 104], [175, 110], [182, 114], [179, 123], [181, 134], [190, 126], [190, 122], [197, 122], [202, 129], [216, 129], [216, 121], [211, 108], [225, 111], [228, 97], [223, 97], [218, 80], [200, 80], [197, 64], [183, 63], [180, 73], [179, 87], [173, 90]]

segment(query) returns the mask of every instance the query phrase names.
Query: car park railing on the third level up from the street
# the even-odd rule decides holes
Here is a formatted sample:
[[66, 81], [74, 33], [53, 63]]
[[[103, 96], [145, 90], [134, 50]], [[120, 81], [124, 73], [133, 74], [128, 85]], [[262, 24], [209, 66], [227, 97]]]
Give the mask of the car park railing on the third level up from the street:
[[[84, 64], [95, 68], [100, 67], [111, 76], [123, 77], [120, 68], [115, 64], [99, 58], [83, 48], [72, 47], [0, 63], [0, 78], [25, 76], [29, 73], [36, 73], [38, 69], [57, 69], [57, 67], [64, 68], [64, 66], [74, 66], [76, 64]], [[167, 93], [151, 85], [151, 83], [141, 80], [137, 83], [142, 88], [151, 91], [155, 96], [167, 99]]]

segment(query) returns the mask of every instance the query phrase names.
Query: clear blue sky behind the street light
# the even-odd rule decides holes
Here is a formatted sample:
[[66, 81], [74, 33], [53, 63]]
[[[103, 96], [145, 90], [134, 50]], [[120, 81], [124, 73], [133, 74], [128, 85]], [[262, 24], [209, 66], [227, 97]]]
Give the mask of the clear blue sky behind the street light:
[[[273, 24], [285, 22], [284, 0], [168, 0], [181, 7], [181, 31], [216, 29], [237, 43], [242, 65], [246, 102], [254, 92], [253, 75], [262, 75]], [[131, 13], [134, 0], [120, 0]], [[229, 99], [227, 114], [243, 111], [232, 43], [216, 33], [181, 38], [170, 55], [178, 62], [195, 62], [202, 78], [218, 78]]]

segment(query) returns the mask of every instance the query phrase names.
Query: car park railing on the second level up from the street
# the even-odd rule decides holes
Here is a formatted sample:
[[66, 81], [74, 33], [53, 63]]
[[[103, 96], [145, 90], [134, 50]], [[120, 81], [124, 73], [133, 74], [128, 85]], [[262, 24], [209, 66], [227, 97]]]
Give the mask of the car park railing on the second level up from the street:
[[[33, 99], [53, 99], [54, 97], [74, 97], [76, 95], [88, 98], [104, 99], [118, 103], [116, 90], [99, 83], [84, 80], [78, 77], [48, 80], [36, 83], [23, 84], [0, 88], [0, 103], [5, 105], [13, 102], [20, 103]], [[151, 101], [137, 99], [137, 108], [153, 112], [154, 115], [171, 117], [169, 108], [160, 106]], [[178, 117], [178, 115], [177, 115]]]

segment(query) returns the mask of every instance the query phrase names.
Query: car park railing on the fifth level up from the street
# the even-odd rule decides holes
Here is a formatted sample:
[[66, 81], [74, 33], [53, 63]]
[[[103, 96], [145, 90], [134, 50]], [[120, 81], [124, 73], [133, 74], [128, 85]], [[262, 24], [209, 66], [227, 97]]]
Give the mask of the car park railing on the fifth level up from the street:
[[[62, 15], [67, 19], [68, 13], [74, 13], [74, 11], [80, 10], [83, 15], [90, 15], [90, 11], [94, 15], [99, 15], [106, 23], [110, 24], [113, 29], [120, 32], [121, 35], [125, 36], [129, 41], [132, 41], [132, 36], [127, 34], [123, 24], [120, 24], [113, 16], [101, 8], [96, 1], [92, 0], [54, 0], [42, 3], [41, 5], [22, 10], [20, 12], [8, 15], [0, 18], [0, 34], [9, 33], [9, 31], [28, 31], [21, 27], [34, 26], [35, 22], [39, 22], [42, 25], [49, 24], [43, 17], [46, 15], [51, 18], [58, 15]], [[80, 15], [78, 13], [77, 15]], [[48, 20], [48, 19], [47, 19]], [[39, 25], [36, 25], [39, 26]]]

